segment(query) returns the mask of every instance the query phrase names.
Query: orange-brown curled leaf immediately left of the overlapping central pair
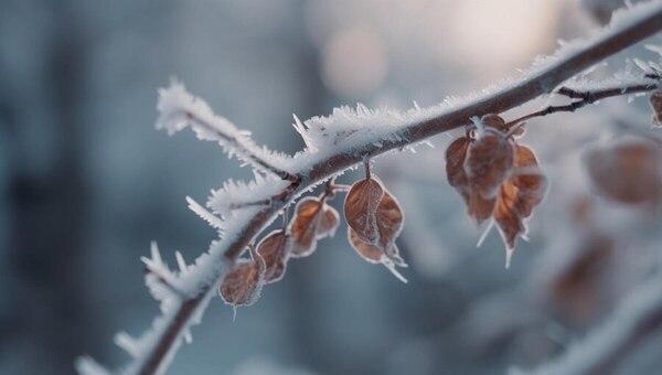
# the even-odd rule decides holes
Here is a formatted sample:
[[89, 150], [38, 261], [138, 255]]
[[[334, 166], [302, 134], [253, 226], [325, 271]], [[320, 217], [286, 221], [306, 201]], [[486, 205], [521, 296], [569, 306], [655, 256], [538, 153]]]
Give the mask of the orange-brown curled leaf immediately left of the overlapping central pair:
[[299, 201], [289, 226], [292, 257], [311, 255], [317, 240], [333, 236], [338, 224], [338, 212], [320, 199], [309, 196]]

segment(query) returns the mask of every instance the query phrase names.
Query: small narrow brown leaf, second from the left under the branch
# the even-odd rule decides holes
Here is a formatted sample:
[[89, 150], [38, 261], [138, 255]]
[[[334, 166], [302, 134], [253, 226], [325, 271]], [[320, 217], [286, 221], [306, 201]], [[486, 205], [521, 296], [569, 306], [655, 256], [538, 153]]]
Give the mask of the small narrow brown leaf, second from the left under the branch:
[[276, 282], [282, 278], [291, 250], [290, 237], [285, 231], [269, 233], [257, 245], [257, 253], [265, 261], [265, 282]]

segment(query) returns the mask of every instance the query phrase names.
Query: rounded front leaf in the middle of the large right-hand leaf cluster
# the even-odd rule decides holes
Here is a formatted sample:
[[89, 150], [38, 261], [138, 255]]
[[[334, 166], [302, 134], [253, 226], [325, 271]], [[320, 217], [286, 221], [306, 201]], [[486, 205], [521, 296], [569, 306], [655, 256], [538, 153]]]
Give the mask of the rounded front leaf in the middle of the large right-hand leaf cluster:
[[491, 199], [513, 168], [513, 144], [503, 135], [489, 128], [469, 146], [465, 170], [471, 192]]

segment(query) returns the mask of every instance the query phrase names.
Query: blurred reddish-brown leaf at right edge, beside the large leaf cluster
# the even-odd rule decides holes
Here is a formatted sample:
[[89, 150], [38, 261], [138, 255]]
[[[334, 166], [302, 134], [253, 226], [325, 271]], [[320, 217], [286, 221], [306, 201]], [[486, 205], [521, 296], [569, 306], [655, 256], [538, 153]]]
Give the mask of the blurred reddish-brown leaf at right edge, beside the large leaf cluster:
[[627, 204], [655, 204], [662, 197], [662, 149], [641, 137], [586, 150], [584, 162], [596, 191]]

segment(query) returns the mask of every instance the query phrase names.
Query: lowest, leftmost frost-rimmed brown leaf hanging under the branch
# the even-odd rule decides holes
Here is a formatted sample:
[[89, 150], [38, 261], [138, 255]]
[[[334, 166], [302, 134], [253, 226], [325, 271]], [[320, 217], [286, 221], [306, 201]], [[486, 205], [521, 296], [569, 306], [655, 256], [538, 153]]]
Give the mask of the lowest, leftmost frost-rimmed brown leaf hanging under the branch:
[[233, 307], [252, 306], [259, 299], [266, 265], [252, 248], [250, 259], [238, 259], [218, 286], [223, 301]]

